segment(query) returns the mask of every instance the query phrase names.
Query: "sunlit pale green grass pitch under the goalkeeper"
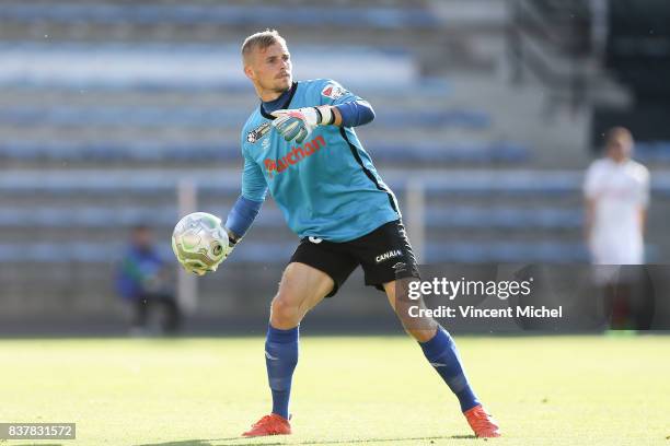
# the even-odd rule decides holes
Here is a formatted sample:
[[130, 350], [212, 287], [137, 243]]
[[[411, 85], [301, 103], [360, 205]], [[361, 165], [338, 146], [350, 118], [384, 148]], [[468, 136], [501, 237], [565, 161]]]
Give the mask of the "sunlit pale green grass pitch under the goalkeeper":
[[[457, 337], [496, 445], [670, 446], [670, 337]], [[0, 445], [475, 445], [418, 347], [303, 333], [296, 434], [268, 412], [262, 338], [0, 341], [0, 422], [76, 422], [76, 441]]]

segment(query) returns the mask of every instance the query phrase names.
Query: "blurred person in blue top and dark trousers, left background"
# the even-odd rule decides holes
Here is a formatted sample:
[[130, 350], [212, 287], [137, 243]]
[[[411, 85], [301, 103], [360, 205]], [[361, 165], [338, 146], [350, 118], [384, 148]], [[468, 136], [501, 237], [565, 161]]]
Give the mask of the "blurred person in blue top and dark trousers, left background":
[[131, 309], [131, 334], [149, 333], [149, 320], [154, 312], [160, 331], [176, 333], [182, 317], [169, 265], [154, 248], [148, 226], [132, 228], [130, 244], [116, 272], [116, 285], [118, 294]]

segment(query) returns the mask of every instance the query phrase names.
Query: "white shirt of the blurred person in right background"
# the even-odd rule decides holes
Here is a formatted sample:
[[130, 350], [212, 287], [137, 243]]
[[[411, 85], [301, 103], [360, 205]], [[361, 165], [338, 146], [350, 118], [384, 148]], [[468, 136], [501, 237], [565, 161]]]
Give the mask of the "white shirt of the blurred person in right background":
[[589, 240], [593, 262], [643, 263], [639, 211], [649, 203], [649, 171], [632, 160], [597, 160], [587, 171], [584, 193], [596, 203]]

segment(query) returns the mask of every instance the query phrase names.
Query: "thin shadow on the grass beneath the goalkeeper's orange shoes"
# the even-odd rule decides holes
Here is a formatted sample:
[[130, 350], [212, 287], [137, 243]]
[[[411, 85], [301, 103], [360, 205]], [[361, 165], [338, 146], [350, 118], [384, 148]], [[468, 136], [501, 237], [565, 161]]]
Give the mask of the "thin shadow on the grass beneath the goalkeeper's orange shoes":
[[[247, 446], [247, 445], [262, 445], [262, 446], [280, 446], [280, 445], [363, 445], [370, 443], [392, 443], [392, 442], [419, 442], [419, 441], [431, 441], [431, 439], [476, 439], [474, 435], [449, 435], [449, 436], [430, 436], [430, 437], [397, 437], [397, 438], [361, 438], [361, 439], [314, 439], [305, 442], [277, 442], [277, 443], [257, 443], [264, 438], [212, 438], [212, 439], [185, 439], [181, 442], [168, 442], [168, 443], [152, 443], [142, 444], [137, 446], [217, 446], [218, 442], [244, 442], [244, 443], [221, 443], [220, 446]], [[216, 443], [212, 443], [216, 442]]]

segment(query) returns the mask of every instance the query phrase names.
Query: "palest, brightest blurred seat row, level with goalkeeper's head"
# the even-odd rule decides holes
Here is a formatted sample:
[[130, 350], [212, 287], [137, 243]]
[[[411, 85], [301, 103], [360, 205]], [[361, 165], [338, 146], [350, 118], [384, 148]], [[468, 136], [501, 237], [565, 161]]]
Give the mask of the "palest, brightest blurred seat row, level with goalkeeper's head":
[[[0, 5], [1, 8], [1, 5]], [[253, 99], [238, 44], [0, 43], [0, 85], [89, 91], [223, 91]], [[322, 68], [323, 52], [331, 64]], [[301, 79], [332, 77], [359, 94], [444, 97], [449, 83], [424, 79], [407, 50], [380, 46], [291, 46]], [[184, 67], [190, 67], [186, 70]], [[106, 68], [106, 69], [105, 69]], [[416, 94], [414, 94], [416, 93]], [[220, 96], [221, 99], [224, 96]]]

